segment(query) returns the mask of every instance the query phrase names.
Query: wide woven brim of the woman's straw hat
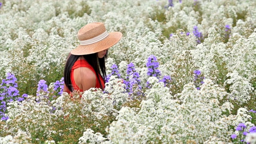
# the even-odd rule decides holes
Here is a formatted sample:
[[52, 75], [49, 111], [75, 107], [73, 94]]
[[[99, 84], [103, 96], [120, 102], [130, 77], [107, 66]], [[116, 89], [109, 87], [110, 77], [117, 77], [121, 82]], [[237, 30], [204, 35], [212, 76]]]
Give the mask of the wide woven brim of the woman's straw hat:
[[122, 38], [121, 32], [109, 32], [108, 36], [99, 42], [88, 45], [78, 45], [75, 49], [71, 50], [73, 55], [85, 55], [85, 54], [94, 54], [102, 50], [106, 50], [114, 46]]

